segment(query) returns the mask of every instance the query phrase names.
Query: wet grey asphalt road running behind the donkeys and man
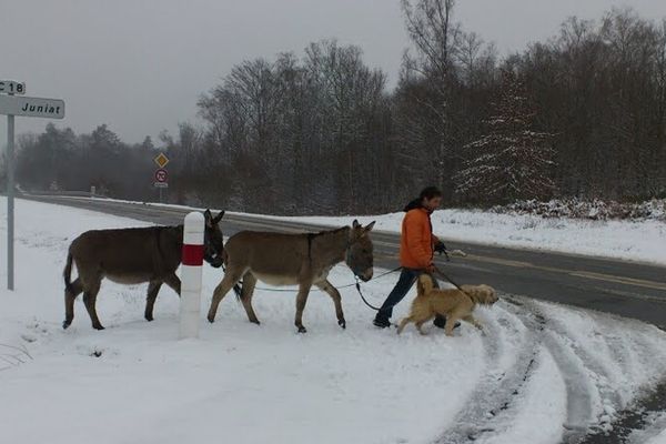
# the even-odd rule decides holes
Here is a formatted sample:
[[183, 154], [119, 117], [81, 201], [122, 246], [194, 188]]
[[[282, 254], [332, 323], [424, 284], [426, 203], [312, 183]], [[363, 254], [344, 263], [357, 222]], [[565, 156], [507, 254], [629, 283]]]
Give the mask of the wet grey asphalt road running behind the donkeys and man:
[[[73, 196], [24, 196], [158, 224], [182, 223], [188, 210]], [[352, 218], [350, 218], [350, 223]], [[222, 231], [241, 230], [303, 232], [327, 226], [226, 214]], [[461, 249], [466, 258], [451, 262], [437, 259], [437, 266], [458, 283], [486, 283], [504, 293], [635, 317], [666, 327], [666, 266], [619, 260], [563, 254], [446, 240], [448, 249]], [[622, 235], [622, 233], [617, 233]], [[375, 265], [397, 266], [398, 235], [373, 231]], [[666, 245], [664, 245], [666, 248]], [[390, 278], [384, 278], [390, 279]], [[666, 330], [666, 329], [665, 329]]]

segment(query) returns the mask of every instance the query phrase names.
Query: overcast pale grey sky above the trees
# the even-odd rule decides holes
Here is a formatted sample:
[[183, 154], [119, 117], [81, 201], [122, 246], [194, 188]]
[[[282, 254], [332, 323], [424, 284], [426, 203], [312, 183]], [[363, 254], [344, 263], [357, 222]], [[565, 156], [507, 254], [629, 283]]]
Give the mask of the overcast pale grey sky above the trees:
[[[458, 0], [455, 16], [506, 53], [556, 34], [568, 16], [599, 18], [627, 4], [666, 17], [664, 0]], [[61, 127], [108, 123], [128, 142], [157, 140], [162, 129], [196, 122], [198, 97], [234, 63], [325, 38], [359, 44], [392, 82], [407, 46], [398, 0], [6, 0], [0, 79], [64, 99]], [[47, 123], [19, 118], [17, 132]], [[2, 141], [4, 131], [0, 124]]]

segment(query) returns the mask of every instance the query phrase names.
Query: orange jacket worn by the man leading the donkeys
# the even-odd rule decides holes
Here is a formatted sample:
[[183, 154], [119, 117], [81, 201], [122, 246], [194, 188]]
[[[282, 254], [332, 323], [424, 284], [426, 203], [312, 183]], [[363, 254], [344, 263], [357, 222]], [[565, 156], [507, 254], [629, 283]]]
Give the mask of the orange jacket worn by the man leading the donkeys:
[[425, 269], [433, 263], [433, 246], [437, 238], [427, 210], [416, 208], [407, 211], [402, 224], [400, 264], [407, 269]]

